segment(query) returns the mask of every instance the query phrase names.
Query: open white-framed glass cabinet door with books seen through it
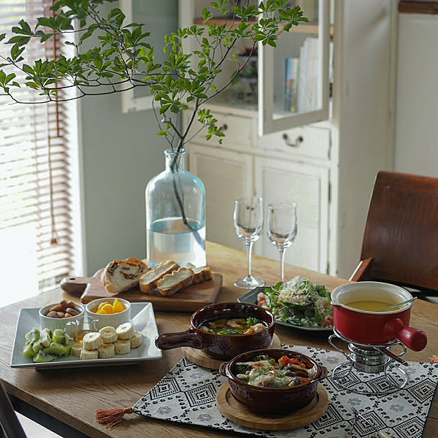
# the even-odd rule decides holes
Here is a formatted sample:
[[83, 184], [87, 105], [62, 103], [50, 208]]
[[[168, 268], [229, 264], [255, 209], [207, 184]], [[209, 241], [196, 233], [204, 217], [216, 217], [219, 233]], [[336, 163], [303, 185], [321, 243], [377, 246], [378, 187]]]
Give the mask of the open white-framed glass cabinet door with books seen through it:
[[329, 4], [296, 1], [309, 23], [259, 44], [259, 136], [329, 117]]

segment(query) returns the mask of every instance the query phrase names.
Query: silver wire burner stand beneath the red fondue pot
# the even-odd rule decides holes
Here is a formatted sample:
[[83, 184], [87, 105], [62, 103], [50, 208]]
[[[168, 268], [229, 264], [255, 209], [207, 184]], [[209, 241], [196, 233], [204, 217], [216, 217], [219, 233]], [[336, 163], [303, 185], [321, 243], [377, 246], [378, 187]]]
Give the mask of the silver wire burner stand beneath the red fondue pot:
[[[409, 381], [409, 376], [400, 363], [409, 366], [409, 363], [400, 359], [407, 352], [406, 346], [400, 341], [388, 344], [357, 344], [343, 337], [333, 329], [334, 334], [329, 337], [329, 343], [348, 359], [337, 365], [332, 371], [331, 378], [339, 389], [365, 394], [369, 396], [384, 396], [402, 389]], [[335, 345], [340, 339], [348, 344], [351, 354]], [[392, 347], [400, 345], [402, 352], [395, 355]], [[379, 375], [380, 374], [380, 375]]]

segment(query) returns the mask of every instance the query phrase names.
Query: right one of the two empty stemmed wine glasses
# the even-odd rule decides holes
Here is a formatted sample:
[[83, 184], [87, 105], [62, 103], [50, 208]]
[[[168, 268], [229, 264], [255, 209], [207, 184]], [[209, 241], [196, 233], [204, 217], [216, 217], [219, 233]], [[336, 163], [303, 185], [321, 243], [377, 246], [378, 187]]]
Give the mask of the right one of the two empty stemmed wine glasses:
[[280, 251], [281, 281], [284, 281], [285, 274], [285, 250], [294, 242], [297, 228], [295, 203], [268, 205], [268, 237]]

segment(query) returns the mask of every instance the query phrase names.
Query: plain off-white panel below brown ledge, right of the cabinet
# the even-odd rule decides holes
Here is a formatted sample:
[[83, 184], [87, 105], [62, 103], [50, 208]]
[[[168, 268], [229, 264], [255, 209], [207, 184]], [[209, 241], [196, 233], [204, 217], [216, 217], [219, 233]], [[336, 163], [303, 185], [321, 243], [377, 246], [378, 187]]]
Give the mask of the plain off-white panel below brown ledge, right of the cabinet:
[[438, 17], [400, 14], [394, 170], [438, 177]]

